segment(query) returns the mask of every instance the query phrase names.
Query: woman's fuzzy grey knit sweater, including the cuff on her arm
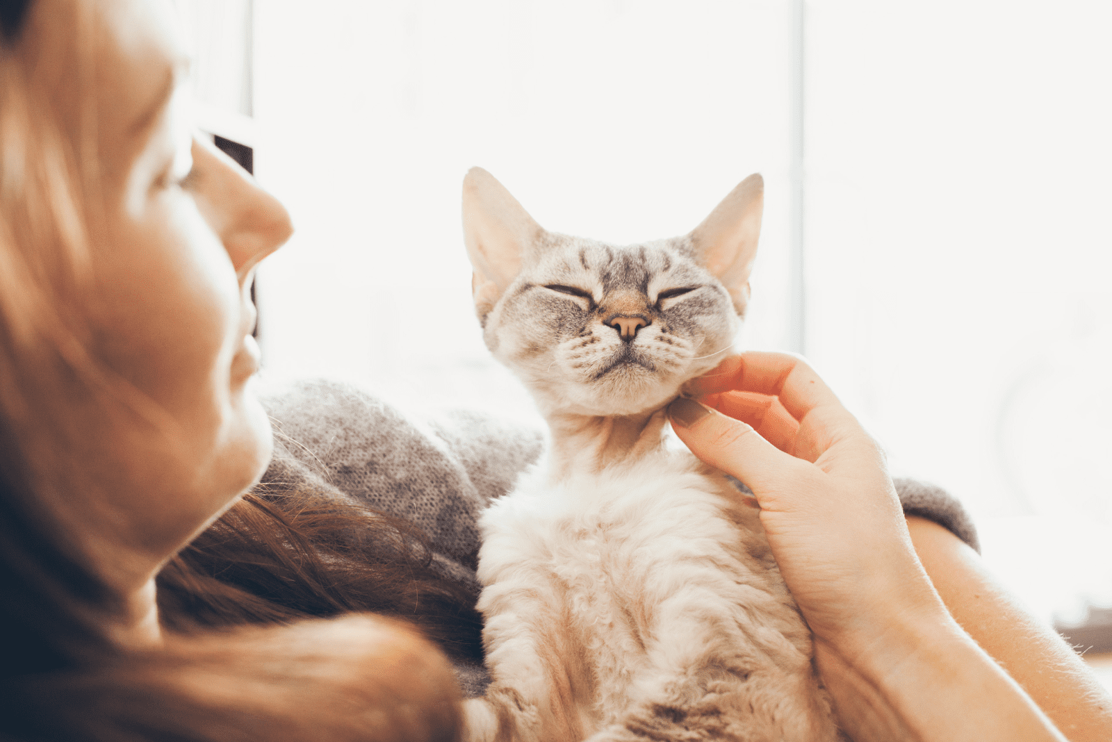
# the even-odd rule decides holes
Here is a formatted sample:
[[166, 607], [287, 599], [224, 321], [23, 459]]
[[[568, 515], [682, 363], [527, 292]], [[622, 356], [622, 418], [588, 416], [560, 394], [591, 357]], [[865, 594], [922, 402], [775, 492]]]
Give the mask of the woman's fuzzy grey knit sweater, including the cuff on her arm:
[[[298, 382], [266, 395], [264, 405], [275, 430], [265, 483], [408, 520], [428, 535], [440, 572], [478, 594], [479, 511], [537, 460], [539, 431], [478, 412], [416, 417], [334, 381]], [[980, 550], [956, 500], [914, 480], [895, 483], [905, 513], [936, 521]], [[483, 693], [481, 666], [460, 663], [456, 672], [465, 694]]]

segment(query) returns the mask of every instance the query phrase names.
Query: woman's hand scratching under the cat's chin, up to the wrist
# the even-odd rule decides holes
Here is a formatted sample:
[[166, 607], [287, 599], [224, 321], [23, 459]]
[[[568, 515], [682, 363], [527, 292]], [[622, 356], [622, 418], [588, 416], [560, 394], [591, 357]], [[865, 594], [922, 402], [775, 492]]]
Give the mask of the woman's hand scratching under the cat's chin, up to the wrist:
[[854, 662], [895, 614], [949, 619], [915, 558], [884, 454], [811, 367], [745, 353], [688, 391], [724, 414], [677, 400], [668, 410], [676, 434], [753, 490], [817, 638]]

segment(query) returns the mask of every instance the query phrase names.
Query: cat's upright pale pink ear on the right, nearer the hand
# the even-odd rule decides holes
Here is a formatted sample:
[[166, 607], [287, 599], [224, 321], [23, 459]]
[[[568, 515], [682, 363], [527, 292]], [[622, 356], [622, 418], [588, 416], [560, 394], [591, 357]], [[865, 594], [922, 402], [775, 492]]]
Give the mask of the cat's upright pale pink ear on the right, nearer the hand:
[[744, 313], [749, 299], [749, 273], [757, 257], [763, 210], [764, 178], [753, 173], [688, 235], [696, 259], [726, 287], [738, 314]]

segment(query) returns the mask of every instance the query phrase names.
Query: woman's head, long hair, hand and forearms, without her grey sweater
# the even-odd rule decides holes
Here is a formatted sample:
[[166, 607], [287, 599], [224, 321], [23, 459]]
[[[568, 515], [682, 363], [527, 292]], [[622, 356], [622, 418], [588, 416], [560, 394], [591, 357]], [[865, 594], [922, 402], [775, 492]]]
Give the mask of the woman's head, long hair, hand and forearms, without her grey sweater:
[[[246, 290], [290, 225], [191, 139], [167, 4], [0, 4], [0, 732], [451, 739], [458, 690], [411, 629], [266, 625], [375, 610], [475, 649], [470, 593], [404, 524], [311, 493], [241, 499], [271, 451]], [[973, 558], [913, 522], [935, 592], [875, 445], [805, 364], [719, 371], [708, 400], [756, 430], [691, 402], [676, 430], [752, 483], [855, 739], [1062, 739], [1039, 706], [1074, 739], [1108, 736], [1106, 696], [1069, 649], [997, 631], [1020, 613], [982, 592], [981, 615]], [[1061, 669], [1048, 682], [1030, 658]]]

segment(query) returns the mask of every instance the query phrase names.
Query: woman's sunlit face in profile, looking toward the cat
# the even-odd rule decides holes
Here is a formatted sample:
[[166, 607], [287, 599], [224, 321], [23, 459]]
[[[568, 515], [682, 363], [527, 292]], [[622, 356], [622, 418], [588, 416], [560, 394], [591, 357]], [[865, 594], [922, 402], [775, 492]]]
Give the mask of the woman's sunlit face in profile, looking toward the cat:
[[[40, 0], [38, 17], [56, 1], [67, 0]], [[91, 3], [99, 30], [102, 201], [92, 203], [89, 309], [99, 360], [138, 390], [139, 413], [90, 431], [97, 455], [80, 465], [96, 478], [96, 501], [73, 504], [107, 569], [131, 582], [148, 580], [269, 460], [270, 427], [249, 383], [249, 287], [291, 227], [272, 197], [195, 138], [169, 0], [76, 1]]]

